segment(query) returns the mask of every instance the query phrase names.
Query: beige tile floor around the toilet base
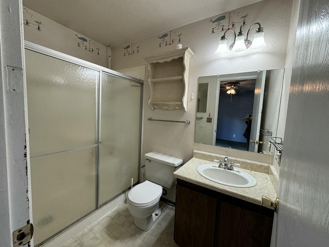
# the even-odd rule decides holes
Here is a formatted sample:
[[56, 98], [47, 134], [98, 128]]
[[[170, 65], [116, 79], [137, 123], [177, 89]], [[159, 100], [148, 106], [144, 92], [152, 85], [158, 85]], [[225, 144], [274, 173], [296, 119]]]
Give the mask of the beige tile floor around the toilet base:
[[148, 232], [134, 225], [122, 203], [62, 247], [175, 247], [175, 208], [160, 202], [161, 216]]

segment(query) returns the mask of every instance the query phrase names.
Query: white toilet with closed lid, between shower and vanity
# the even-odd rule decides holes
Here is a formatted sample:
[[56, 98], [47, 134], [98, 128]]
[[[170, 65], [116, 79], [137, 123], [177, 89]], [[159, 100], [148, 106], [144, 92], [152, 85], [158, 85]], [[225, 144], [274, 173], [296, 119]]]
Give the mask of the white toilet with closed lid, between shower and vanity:
[[163, 187], [171, 188], [174, 185], [176, 179], [173, 173], [183, 160], [157, 152], [147, 153], [144, 157], [147, 180], [129, 191], [127, 205], [135, 225], [149, 231], [161, 215], [159, 201]]

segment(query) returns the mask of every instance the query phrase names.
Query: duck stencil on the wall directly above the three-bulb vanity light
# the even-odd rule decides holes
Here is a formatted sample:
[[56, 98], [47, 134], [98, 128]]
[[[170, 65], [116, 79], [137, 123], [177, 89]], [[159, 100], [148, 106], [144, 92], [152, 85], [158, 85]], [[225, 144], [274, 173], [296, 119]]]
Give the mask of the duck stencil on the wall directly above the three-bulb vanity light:
[[[231, 11], [228, 13], [228, 16], [226, 17], [226, 15], [221, 15], [218, 16], [215, 20], [210, 19], [209, 22], [211, 22], [211, 24], [214, 24], [215, 26], [211, 28], [211, 34], [215, 33], [216, 30], [219, 30], [220, 32], [222, 31], [226, 31], [228, 29], [233, 29], [236, 24], [240, 24], [238, 25], [239, 27], [242, 25], [246, 25], [246, 18], [247, 18], [248, 14], [245, 14], [243, 16], [240, 16], [240, 11]], [[222, 21], [226, 20], [227, 23], [223, 24]]]

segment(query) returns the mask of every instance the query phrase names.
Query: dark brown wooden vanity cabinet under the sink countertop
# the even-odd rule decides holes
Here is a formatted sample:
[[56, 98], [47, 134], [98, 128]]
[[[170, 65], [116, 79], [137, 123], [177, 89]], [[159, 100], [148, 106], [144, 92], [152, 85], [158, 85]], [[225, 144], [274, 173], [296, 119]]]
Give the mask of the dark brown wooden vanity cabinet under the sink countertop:
[[274, 211], [177, 180], [174, 240], [180, 246], [270, 246]]

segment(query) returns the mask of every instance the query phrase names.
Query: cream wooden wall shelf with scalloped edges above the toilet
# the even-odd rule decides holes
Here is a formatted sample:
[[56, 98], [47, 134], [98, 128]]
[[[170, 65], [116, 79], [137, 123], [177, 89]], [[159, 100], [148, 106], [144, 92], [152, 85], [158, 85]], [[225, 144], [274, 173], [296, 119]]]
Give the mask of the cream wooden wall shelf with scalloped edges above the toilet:
[[145, 57], [150, 72], [149, 105], [152, 110], [184, 109], [187, 111], [190, 48], [168, 51], [156, 56]]

